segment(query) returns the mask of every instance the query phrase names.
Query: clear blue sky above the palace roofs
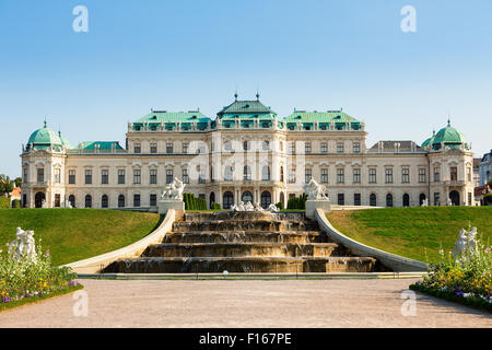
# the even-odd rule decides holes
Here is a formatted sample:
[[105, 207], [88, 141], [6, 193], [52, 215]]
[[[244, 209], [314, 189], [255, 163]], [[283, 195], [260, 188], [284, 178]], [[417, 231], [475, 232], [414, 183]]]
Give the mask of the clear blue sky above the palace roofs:
[[[89, 33], [72, 10], [89, 9]], [[417, 9], [402, 33], [400, 9]], [[364, 120], [368, 145], [452, 125], [492, 149], [492, 1], [0, 0], [0, 173], [48, 126], [118, 140], [150, 108], [214, 117], [233, 100]]]

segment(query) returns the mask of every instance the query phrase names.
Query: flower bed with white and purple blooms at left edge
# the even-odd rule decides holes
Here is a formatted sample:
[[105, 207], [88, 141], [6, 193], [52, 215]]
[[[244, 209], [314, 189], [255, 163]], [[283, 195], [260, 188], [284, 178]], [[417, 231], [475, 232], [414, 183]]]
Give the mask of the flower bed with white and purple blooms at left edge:
[[0, 311], [81, 289], [75, 278], [71, 269], [54, 266], [40, 245], [35, 258], [0, 250]]

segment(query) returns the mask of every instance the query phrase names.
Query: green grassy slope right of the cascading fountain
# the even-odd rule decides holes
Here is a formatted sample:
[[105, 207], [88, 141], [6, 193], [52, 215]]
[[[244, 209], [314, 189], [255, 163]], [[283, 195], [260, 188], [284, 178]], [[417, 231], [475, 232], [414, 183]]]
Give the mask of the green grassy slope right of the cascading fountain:
[[461, 228], [477, 226], [485, 245], [492, 244], [492, 207], [386, 208], [333, 211], [331, 224], [361, 243], [394, 254], [434, 261], [438, 250], [453, 250]]

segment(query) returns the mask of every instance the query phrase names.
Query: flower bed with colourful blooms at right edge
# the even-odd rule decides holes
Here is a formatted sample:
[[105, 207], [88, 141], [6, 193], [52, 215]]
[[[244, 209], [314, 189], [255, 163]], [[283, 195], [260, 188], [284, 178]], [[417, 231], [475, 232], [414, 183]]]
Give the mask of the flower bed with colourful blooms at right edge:
[[492, 312], [492, 253], [480, 243], [456, 257], [440, 252], [437, 264], [410, 289]]

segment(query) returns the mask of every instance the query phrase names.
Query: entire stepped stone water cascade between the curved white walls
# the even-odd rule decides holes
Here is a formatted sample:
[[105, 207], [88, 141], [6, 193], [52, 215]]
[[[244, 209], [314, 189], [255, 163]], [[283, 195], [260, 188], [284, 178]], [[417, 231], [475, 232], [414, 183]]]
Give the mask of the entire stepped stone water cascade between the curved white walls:
[[370, 272], [376, 260], [350, 256], [304, 213], [185, 213], [163, 242], [104, 272]]

